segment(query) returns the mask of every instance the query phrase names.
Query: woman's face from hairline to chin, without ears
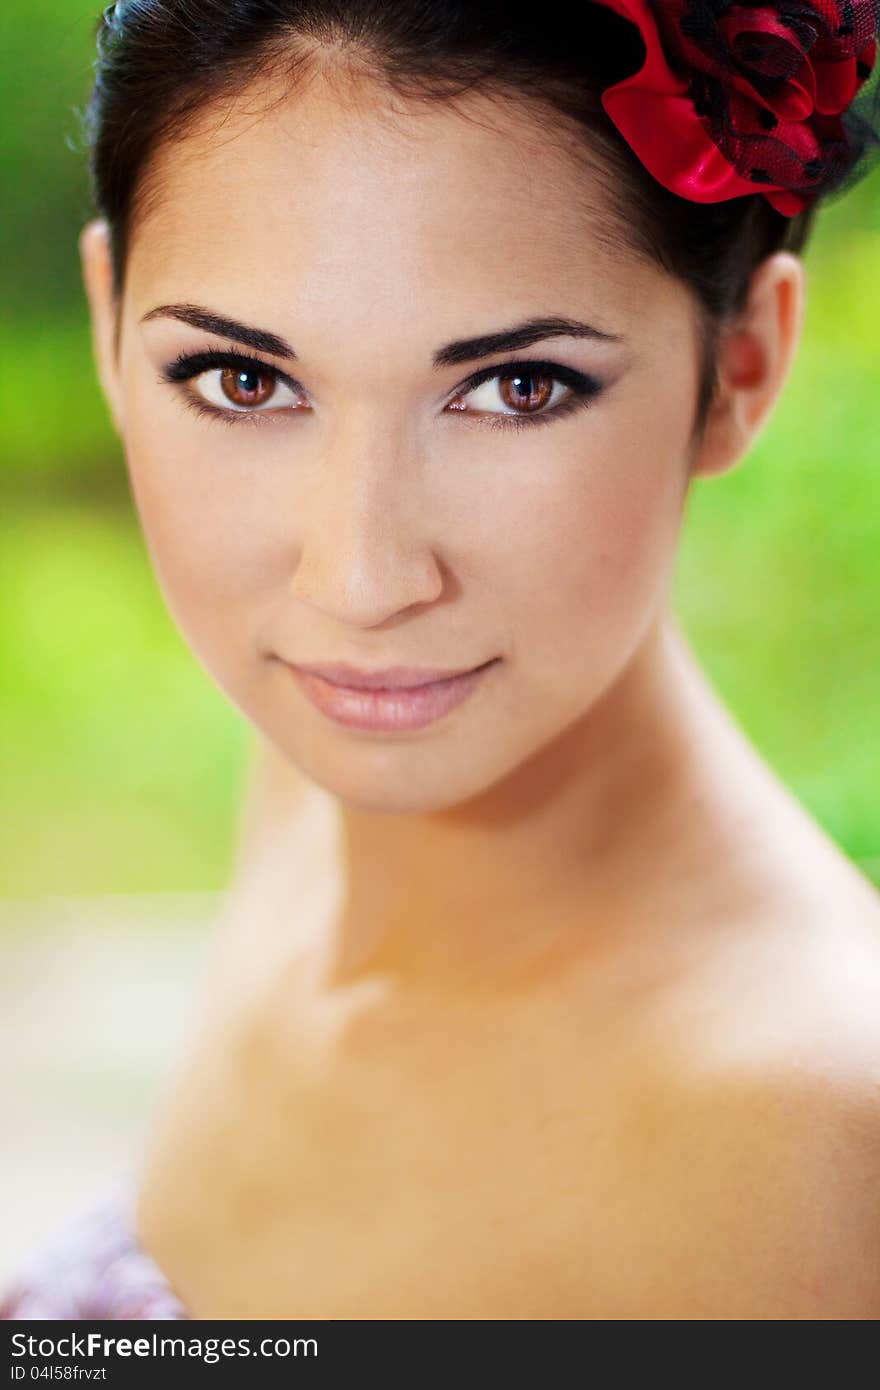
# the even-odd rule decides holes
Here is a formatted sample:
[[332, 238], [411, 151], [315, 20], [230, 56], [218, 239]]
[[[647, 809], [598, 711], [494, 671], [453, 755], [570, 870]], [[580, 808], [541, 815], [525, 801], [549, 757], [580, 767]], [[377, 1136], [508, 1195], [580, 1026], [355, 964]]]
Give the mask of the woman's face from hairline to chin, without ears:
[[[527, 108], [391, 118], [316, 81], [254, 110], [161, 150], [131, 246], [101, 377], [145, 537], [193, 652], [284, 755], [353, 805], [448, 808], [587, 716], [656, 616], [690, 477], [692, 302]], [[562, 318], [609, 336], [449, 348]], [[229, 352], [247, 361], [185, 360]], [[338, 723], [286, 664], [491, 660], [396, 731]]]

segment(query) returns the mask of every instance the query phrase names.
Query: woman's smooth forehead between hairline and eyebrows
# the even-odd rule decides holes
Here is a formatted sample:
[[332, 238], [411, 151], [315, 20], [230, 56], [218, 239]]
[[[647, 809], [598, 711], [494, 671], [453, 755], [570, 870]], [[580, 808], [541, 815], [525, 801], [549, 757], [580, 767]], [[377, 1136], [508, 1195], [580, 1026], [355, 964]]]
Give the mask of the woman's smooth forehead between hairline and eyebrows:
[[584, 138], [527, 101], [407, 103], [320, 76], [253, 85], [165, 142], [143, 188], [135, 313], [202, 297], [271, 322], [284, 304], [375, 334], [406, 309], [428, 327], [450, 316], [452, 335], [463, 304], [492, 320], [499, 302], [581, 304], [621, 331], [676, 299], [628, 247]]

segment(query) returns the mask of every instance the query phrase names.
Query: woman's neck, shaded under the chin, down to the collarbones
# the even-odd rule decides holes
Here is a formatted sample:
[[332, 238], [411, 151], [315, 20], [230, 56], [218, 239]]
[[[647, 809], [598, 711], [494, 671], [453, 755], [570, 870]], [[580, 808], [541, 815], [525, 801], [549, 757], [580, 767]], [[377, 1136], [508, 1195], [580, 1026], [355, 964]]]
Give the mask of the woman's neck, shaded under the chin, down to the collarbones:
[[662, 614], [581, 720], [439, 813], [352, 808], [261, 741], [232, 895], [284, 934], [303, 885], [332, 880], [320, 942], [328, 987], [377, 974], [434, 990], [496, 981], [545, 952], [581, 952], [621, 924], [656, 920], [684, 881], [676, 859], [706, 834], [706, 769], [730, 745], [724, 730]]

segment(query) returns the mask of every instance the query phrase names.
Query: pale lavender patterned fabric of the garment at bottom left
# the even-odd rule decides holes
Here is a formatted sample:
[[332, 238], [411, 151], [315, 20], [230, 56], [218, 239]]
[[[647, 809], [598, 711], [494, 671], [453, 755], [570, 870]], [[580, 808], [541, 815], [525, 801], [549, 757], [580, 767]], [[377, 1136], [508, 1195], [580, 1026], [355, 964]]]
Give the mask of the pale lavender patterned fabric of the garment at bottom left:
[[124, 1180], [39, 1245], [0, 1291], [0, 1322], [186, 1319], [171, 1284], [138, 1241], [135, 1198], [133, 1183]]

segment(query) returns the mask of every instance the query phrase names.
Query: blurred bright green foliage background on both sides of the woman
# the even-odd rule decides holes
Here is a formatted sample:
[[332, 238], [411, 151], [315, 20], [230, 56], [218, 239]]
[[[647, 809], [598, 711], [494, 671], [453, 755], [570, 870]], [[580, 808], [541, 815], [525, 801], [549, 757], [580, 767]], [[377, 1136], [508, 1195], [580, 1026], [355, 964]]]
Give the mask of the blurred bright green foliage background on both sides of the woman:
[[[222, 888], [250, 751], [165, 613], [95, 375], [90, 0], [0, 21], [0, 897]], [[758, 749], [880, 884], [880, 171], [819, 217], [802, 348], [698, 481], [674, 605]]]

